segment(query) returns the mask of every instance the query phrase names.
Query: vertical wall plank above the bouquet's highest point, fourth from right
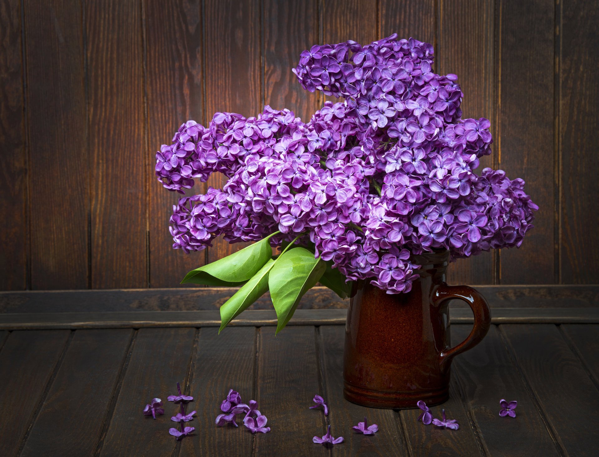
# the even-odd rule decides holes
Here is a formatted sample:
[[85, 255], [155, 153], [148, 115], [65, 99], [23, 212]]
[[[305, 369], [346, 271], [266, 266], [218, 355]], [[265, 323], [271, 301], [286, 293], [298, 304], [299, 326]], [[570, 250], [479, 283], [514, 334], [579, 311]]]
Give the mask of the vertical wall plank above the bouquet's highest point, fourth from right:
[[412, 37], [436, 48], [436, 14], [435, 0], [379, 0], [380, 38], [397, 32], [398, 38]]

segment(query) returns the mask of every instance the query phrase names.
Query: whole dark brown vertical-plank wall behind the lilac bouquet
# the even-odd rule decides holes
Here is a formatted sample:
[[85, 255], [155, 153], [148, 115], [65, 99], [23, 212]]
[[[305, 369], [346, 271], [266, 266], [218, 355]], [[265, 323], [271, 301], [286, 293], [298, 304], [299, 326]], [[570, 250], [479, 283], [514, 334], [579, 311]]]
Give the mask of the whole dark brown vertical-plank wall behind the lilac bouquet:
[[173, 287], [228, 254], [171, 249], [155, 151], [216, 111], [307, 118], [323, 98], [295, 81], [299, 53], [393, 32], [434, 44], [464, 117], [491, 119], [483, 166], [540, 206], [521, 249], [450, 281], [597, 283], [597, 23], [588, 0], [2, 0], [0, 290]]

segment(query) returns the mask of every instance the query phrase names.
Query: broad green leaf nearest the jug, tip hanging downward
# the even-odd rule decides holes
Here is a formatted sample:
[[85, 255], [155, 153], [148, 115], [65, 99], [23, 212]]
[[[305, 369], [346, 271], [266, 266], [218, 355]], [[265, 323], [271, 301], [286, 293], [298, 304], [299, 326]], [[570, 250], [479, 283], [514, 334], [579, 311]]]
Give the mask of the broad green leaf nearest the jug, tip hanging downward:
[[280, 255], [268, 275], [270, 296], [277, 311], [276, 333], [287, 325], [301, 297], [314, 287], [325, 269], [326, 263], [304, 248], [292, 248]]

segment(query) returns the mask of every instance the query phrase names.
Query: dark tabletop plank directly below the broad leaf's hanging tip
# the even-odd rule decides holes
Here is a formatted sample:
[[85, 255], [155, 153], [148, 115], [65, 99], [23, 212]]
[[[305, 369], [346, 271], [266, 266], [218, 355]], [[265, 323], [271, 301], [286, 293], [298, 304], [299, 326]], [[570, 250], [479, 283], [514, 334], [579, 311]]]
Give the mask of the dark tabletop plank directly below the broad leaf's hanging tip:
[[[319, 383], [315, 329], [287, 327], [277, 336], [274, 331], [274, 327], [260, 330], [256, 398], [273, 432], [256, 434], [255, 454], [326, 456], [326, 447], [311, 440], [326, 433], [325, 416], [322, 410], [308, 409], [314, 395], [326, 397]], [[274, 432], [283, 430], [285, 434]], [[338, 437], [346, 431], [332, 428], [331, 433]]]

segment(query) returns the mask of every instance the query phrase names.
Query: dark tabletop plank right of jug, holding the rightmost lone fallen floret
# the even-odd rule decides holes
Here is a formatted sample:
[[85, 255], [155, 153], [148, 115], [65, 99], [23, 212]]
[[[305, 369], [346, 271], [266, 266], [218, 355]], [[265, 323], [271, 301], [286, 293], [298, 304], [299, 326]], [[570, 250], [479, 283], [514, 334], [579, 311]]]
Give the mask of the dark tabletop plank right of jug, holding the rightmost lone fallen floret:
[[[470, 330], [470, 326], [452, 325], [452, 345], [464, 341]], [[496, 326], [491, 326], [479, 345], [453, 360], [452, 375], [462, 386], [466, 405], [484, 437], [488, 455], [559, 456]], [[498, 416], [501, 398], [518, 401], [518, 420]]]

